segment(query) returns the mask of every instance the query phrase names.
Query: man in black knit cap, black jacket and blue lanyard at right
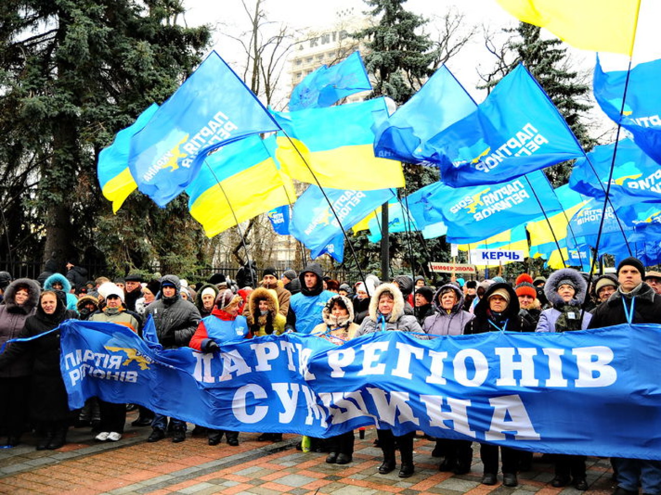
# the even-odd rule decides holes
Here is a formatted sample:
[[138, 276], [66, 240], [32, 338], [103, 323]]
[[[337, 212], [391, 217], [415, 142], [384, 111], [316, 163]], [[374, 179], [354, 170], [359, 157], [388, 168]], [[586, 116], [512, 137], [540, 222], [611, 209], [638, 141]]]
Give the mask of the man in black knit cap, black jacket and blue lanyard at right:
[[[635, 257], [617, 265], [619, 287], [594, 311], [588, 328], [602, 328], [621, 323], [661, 323], [661, 296], [642, 280], [645, 267]], [[617, 489], [613, 495], [661, 493], [661, 461], [613, 457]]]

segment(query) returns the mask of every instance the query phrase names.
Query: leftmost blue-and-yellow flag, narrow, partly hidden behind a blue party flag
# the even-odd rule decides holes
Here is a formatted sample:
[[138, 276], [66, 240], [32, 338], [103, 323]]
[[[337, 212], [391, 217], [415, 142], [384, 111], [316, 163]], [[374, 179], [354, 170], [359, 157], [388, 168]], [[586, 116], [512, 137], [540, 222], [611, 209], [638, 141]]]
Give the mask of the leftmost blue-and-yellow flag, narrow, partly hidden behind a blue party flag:
[[115, 140], [98, 154], [97, 176], [101, 192], [108, 201], [112, 201], [112, 212], [117, 213], [130, 193], [136, 190], [137, 184], [128, 168], [128, 155], [131, 138], [147, 125], [159, 106], [151, 104], [142, 112], [132, 125], [122, 129]]

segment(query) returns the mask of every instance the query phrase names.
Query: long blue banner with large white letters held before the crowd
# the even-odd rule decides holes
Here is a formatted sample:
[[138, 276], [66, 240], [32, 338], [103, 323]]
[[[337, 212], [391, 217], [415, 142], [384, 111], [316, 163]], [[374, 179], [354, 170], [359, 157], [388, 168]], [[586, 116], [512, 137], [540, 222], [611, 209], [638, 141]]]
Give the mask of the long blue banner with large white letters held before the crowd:
[[[327, 437], [377, 424], [535, 452], [661, 459], [661, 325], [335, 346], [268, 335], [201, 354], [114, 323], [65, 321], [69, 407], [97, 395], [194, 424]], [[176, 391], [176, 393], [173, 393]]]

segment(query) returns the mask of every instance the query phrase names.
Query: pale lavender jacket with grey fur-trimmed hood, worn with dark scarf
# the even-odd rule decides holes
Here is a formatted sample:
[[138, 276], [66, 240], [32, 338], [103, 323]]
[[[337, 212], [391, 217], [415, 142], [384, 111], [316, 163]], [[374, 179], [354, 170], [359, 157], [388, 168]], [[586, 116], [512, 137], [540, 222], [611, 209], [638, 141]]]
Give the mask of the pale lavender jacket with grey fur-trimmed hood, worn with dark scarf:
[[[563, 298], [558, 294], [558, 282], [563, 280], [570, 280], [576, 286], [576, 294], [569, 302], [564, 302]], [[544, 295], [549, 304], [553, 307], [544, 310], [539, 315], [539, 321], [537, 321], [536, 332], [562, 332], [566, 329], [557, 328], [558, 318], [562, 314], [563, 308], [568, 314], [574, 315], [576, 319], [582, 318], [581, 329], [584, 330], [588, 328], [590, 319], [592, 319], [592, 314], [581, 309], [581, 305], [586, 297], [588, 292], [588, 284], [585, 279], [578, 273], [578, 271], [572, 268], [563, 268], [559, 269], [549, 276], [549, 280], [544, 284]], [[571, 306], [576, 308], [575, 311], [571, 311], [566, 306]], [[576, 325], [578, 327], [578, 324]]]

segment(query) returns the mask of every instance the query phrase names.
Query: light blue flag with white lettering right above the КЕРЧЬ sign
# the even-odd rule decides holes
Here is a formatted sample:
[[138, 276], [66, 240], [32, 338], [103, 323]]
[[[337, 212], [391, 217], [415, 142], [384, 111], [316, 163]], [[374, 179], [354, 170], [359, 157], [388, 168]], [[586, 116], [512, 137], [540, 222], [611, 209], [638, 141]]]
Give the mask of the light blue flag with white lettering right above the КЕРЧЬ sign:
[[443, 184], [426, 201], [444, 217], [447, 242], [455, 244], [485, 240], [534, 220], [543, 211], [562, 209], [539, 170], [498, 185], [453, 188]]

